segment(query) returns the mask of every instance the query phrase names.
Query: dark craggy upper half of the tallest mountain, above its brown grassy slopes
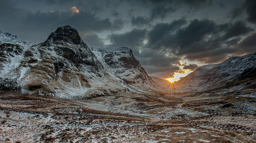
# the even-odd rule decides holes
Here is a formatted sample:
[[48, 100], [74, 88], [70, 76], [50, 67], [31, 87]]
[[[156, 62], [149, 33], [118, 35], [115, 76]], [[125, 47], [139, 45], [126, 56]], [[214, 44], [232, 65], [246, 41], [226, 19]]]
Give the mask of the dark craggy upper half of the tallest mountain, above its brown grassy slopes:
[[41, 52], [41, 56], [55, 56], [57, 54], [73, 63], [80, 71], [84, 71], [84, 68], [86, 68], [87, 72], [90, 70], [90, 72], [96, 73], [99, 69], [103, 69], [96, 56], [90, 51], [87, 44], [82, 41], [77, 30], [71, 26], [57, 28], [38, 50]]

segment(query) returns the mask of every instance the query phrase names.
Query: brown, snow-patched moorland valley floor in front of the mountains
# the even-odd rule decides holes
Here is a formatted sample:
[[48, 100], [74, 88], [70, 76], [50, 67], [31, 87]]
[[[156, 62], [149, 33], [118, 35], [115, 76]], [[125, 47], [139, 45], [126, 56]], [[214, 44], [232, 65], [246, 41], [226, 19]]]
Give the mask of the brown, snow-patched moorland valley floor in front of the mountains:
[[0, 142], [256, 142], [256, 100], [199, 92], [88, 100], [0, 92]]

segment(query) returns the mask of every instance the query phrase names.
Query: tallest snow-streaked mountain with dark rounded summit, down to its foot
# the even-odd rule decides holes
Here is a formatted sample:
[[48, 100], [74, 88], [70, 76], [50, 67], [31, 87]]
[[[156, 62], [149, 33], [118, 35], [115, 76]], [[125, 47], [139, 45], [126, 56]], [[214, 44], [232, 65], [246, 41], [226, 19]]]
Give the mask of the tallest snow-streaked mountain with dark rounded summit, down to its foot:
[[[8, 47], [1, 48], [4, 49], [3, 56], [11, 61], [11, 56], [7, 55], [13, 54], [14, 51], [6, 51]], [[123, 48], [119, 48], [121, 49]], [[125, 49], [132, 53], [131, 49]], [[71, 26], [59, 27], [45, 42], [20, 50], [19, 57], [20, 60], [15, 62], [16, 66], [12, 70], [3, 68], [0, 71], [3, 78], [0, 85], [7, 81], [17, 83], [16, 89], [22, 93], [86, 99], [117, 92], [149, 93], [148, 91], [151, 91], [150, 86], [144, 88], [142, 85], [144, 83], [141, 82], [137, 82], [136, 85], [126, 83], [120, 75], [117, 76], [113, 70], [103, 66], [91, 48], [82, 41], [78, 31]], [[134, 58], [133, 54], [132, 58]], [[137, 61], [135, 58], [133, 60]], [[8, 71], [8, 74], [4, 74], [4, 70]], [[7, 85], [9, 85], [8, 89], [13, 89], [10, 84]], [[143, 88], [139, 88], [141, 86]], [[155, 93], [150, 92], [150, 94]]]

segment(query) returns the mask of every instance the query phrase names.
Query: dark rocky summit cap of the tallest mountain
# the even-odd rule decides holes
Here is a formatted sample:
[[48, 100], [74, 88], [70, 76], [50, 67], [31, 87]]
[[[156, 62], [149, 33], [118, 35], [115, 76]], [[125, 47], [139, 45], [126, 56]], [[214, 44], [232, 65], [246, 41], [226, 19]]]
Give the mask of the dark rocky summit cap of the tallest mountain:
[[78, 31], [69, 25], [57, 28], [56, 31], [52, 32], [48, 39], [44, 43], [48, 42], [67, 42], [73, 44], [82, 44], [82, 38], [80, 37]]

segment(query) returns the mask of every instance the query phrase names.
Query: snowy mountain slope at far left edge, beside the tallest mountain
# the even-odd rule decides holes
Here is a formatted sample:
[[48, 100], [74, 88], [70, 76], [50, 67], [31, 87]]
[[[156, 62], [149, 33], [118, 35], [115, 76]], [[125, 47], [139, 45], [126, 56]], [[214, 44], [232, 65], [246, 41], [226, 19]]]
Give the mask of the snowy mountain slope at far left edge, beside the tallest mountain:
[[30, 47], [30, 42], [0, 31], [0, 89], [20, 91], [15, 79], [21, 79], [24, 75], [25, 69], [19, 65]]

